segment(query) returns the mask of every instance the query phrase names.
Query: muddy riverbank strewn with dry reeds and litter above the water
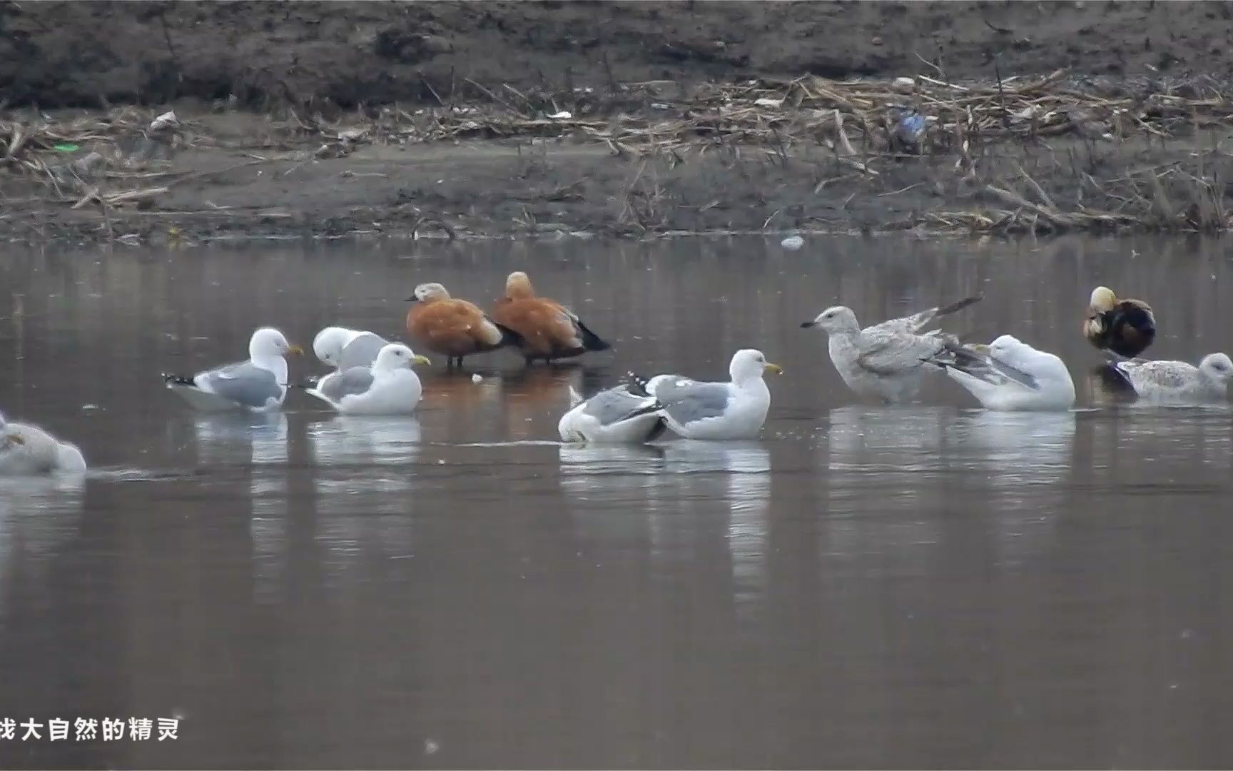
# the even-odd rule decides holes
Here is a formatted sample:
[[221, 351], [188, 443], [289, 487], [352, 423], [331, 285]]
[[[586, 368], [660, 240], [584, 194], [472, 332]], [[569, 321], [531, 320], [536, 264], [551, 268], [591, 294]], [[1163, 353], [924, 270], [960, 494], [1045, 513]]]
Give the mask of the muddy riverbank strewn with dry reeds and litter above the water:
[[1228, 228], [1223, 5], [963, 6], [6, 4], [0, 238]]

